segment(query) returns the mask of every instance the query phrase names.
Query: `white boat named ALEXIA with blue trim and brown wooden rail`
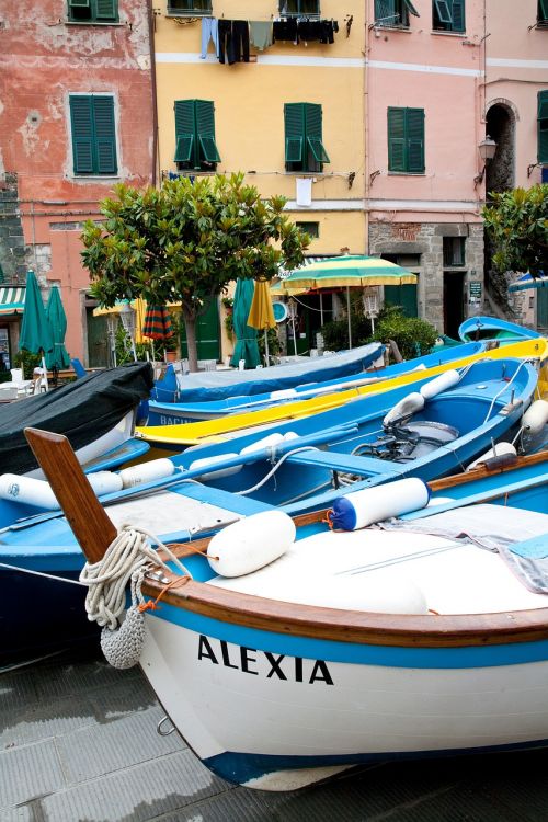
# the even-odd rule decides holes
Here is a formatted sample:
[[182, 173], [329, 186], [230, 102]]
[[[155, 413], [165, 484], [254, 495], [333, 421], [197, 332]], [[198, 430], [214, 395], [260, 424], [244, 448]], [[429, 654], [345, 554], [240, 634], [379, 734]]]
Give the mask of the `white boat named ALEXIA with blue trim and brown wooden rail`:
[[[112, 562], [138, 532], [117, 534], [59, 438], [33, 432], [32, 442], [89, 561], [110, 545]], [[139, 616], [135, 606], [124, 624], [144, 619], [144, 642], [129, 649], [106, 631], [105, 653], [116, 641], [113, 661], [138, 659], [204, 764], [250, 788], [290, 790], [392, 758], [546, 746], [547, 496], [511, 507], [504, 477], [491, 475], [492, 499], [479, 506], [469, 504], [475, 480], [466, 493], [461, 483], [465, 504], [454, 511], [436, 500], [454, 493], [447, 484], [409, 478], [367, 489], [361, 515], [378, 491], [385, 516], [409, 512], [369, 516], [383, 520], [374, 528], [333, 530], [326, 512], [292, 520], [270, 510], [187, 546], [181, 515], [164, 518], [174, 558], [164, 553], [168, 563], [144, 576], [155, 608]], [[516, 475], [510, 483], [517, 500], [525, 489]], [[332, 523], [351, 495], [333, 501]], [[160, 496], [141, 499], [141, 511]], [[412, 518], [413, 506], [423, 514]], [[115, 625], [123, 612], [122, 601]]]

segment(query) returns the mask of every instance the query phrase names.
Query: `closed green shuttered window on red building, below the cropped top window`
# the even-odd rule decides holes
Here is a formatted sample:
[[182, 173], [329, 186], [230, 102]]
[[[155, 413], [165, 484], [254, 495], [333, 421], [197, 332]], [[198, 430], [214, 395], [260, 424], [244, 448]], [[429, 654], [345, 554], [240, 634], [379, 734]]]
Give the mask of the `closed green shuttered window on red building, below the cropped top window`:
[[69, 98], [75, 174], [116, 174], [114, 98]]

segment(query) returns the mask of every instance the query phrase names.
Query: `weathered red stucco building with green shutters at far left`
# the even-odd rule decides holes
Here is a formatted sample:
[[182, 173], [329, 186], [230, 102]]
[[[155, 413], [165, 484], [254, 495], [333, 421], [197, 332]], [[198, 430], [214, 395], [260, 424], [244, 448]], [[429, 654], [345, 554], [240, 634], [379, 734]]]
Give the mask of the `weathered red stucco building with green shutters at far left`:
[[106, 343], [87, 338], [82, 221], [115, 183], [153, 179], [149, 3], [21, 0], [0, 20], [0, 343], [12, 358], [32, 267], [45, 299], [60, 285], [67, 349], [88, 363]]

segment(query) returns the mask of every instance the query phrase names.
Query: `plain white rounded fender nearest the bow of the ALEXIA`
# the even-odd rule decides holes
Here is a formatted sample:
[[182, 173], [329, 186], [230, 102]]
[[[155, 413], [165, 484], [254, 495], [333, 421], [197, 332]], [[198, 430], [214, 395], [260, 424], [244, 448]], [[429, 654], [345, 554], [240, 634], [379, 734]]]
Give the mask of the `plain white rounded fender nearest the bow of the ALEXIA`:
[[295, 523], [283, 511], [263, 511], [216, 534], [207, 559], [220, 576], [242, 576], [281, 557], [295, 541]]

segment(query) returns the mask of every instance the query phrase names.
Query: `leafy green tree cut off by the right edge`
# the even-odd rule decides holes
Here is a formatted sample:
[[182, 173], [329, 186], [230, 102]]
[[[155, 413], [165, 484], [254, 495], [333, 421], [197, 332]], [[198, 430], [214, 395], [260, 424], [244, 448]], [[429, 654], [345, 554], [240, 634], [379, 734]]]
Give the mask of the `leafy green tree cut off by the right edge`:
[[501, 272], [546, 273], [548, 266], [548, 185], [493, 192], [483, 207], [486, 230]]

